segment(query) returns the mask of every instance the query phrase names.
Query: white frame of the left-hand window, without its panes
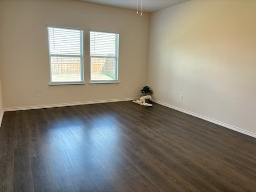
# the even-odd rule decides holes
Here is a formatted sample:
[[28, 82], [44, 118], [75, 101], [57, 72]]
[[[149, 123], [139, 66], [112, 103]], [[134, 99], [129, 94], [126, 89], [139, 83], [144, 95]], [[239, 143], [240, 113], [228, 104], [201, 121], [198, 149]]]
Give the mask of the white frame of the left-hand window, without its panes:
[[[80, 36], [80, 55], [68, 55], [68, 54], [51, 54], [50, 52], [50, 38], [49, 38], [49, 28], [60, 28], [60, 29], [75, 29], [82, 31]], [[85, 84], [84, 82], [84, 30], [82, 28], [73, 28], [73, 27], [59, 27], [59, 26], [51, 26], [47, 25], [47, 38], [48, 38], [48, 50], [49, 50], [49, 66], [50, 66], [50, 83], [49, 85], [78, 85], [78, 84]], [[51, 70], [51, 57], [74, 57], [80, 58], [81, 64], [81, 81], [74, 81], [74, 82], [53, 82], [52, 81], [52, 70]]]

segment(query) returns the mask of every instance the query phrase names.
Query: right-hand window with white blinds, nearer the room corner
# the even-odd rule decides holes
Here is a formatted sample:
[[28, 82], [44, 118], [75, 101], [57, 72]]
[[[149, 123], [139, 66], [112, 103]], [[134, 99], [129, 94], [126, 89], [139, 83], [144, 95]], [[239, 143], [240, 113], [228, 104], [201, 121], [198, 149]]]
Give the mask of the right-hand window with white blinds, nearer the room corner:
[[119, 34], [90, 31], [91, 83], [118, 82]]

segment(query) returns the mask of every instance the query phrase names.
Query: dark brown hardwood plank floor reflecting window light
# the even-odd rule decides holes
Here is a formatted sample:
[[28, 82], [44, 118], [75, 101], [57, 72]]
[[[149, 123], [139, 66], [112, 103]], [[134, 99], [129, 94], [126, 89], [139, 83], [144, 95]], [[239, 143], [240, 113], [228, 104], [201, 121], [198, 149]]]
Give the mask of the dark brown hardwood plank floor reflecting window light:
[[0, 191], [256, 191], [256, 139], [157, 104], [12, 111]]

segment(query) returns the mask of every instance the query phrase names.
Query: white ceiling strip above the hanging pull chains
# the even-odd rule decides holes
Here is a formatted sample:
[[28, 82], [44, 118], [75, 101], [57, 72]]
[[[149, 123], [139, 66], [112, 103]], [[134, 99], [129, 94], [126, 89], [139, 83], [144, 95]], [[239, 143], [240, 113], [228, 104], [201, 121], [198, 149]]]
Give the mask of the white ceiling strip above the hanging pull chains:
[[[124, 9], [137, 10], [137, 0], [79, 0], [84, 2], [90, 2], [100, 5], [109, 5], [115, 7], [121, 7]], [[184, 3], [190, 0], [143, 0], [142, 11], [145, 12], [155, 12], [167, 7]], [[139, 6], [141, 5], [141, 0], [139, 0]]]

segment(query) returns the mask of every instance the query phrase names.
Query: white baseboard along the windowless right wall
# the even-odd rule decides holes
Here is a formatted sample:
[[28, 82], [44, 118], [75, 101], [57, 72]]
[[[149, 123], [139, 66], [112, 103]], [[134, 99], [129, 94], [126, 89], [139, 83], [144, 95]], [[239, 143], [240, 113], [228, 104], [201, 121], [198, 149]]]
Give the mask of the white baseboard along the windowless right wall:
[[196, 113], [194, 113], [194, 112], [191, 112], [191, 111], [188, 111], [188, 110], [185, 110], [185, 109], [181, 109], [181, 108], [179, 108], [179, 107], [175, 107], [175, 106], [172, 106], [172, 105], [170, 105], [170, 104], [167, 104], [167, 103], [164, 103], [164, 102], [161, 102], [161, 101], [153, 100], [153, 102], [158, 103], [159, 105], [162, 105], [162, 106], [165, 106], [165, 107], [169, 107], [169, 108], [178, 110], [178, 111], [180, 111], [180, 112], [182, 112], [182, 113], [185, 113], [185, 114], [188, 114], [188, 115], [192, 115], [192, 116], [197, 117], [197, 118], [204, 119], [205, 121], [208, 121], [208, 122], [211, 122], [211, 123], [214, 123], [214, 124], [217, 124], [217, 125], [226, 127], [226, 128], [228, 128], [228, 129], [237, 131], [237, 132], [239, 132], [239, 133], [243, 133], [243, 134], [246, 134], [246, 135], [249, 135], [249, 136], [251, 136], [251, 137], [256, 138], [256, 134], [255, 134], [255, 133], [252, 133], [252, 132], [250, 132], [250, 131], [246, 131], [246, 130], [241, 129], [241, 128], [238, 128], [238, 127], [236, 127], [236, 126], [229, 125], [229, 124], [227, 124], [227, 123], [223, 123], [223, 122], [217, 121], [217, 120], [215, 120], [215, 119], [212, 119], [212, 118], [209, 118], [209, 117], [205, 117], [205, 116], [203, 116], [203, 115], [199, 115], [199, 114], [196, 114]]

